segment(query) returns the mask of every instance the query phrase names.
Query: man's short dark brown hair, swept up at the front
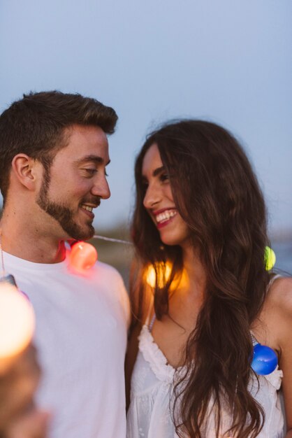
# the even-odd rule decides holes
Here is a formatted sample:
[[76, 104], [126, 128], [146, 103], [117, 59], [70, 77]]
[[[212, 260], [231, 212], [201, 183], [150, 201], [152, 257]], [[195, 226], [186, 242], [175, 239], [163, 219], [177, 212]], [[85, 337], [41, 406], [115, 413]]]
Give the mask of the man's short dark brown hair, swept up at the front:
[[94, 125], [105, 134], [112, 134], [116, 122], [117, 114], [112, 108], [81, 94], [24, 94], [0, 116], [0, 189], [4, 202], [15, 155], [25, 153], [49, 169], [57, 150], [66, 146], [66, 127]]

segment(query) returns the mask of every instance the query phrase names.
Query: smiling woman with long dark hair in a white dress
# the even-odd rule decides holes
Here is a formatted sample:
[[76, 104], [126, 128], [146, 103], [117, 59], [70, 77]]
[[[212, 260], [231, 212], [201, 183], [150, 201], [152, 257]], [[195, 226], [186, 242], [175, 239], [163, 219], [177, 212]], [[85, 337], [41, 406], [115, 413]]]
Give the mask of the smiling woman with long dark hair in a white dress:
[[[292, 281], [265, 269], [265, 204], [242, 148], [210, 122], [164, 125], [136, 190], [128, 438], [292, 437]], [[277, 353], [265, 376], [257, 342]]]

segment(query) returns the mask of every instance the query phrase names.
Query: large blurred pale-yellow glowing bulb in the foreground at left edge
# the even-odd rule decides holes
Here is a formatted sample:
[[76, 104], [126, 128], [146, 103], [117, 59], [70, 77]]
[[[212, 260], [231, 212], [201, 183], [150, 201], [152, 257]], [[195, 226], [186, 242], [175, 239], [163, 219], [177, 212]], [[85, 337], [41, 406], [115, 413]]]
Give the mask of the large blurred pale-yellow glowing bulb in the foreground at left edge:
[[35, 316], [29, 300], [15, 286], [0, 283], [0, 359], [10, 358], [29, 345]]

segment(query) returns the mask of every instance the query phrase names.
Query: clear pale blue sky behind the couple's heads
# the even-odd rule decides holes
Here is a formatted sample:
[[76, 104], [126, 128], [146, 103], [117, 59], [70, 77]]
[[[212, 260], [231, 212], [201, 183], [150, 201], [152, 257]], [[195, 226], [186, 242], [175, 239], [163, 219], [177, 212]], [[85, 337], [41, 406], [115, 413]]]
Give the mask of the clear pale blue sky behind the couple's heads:
[[129, 218], [145, 134], [179, 117], [238, 136], [270, 229], [292, 228], [291, 19], [291, 0], [1, 0], [0, 109], [52, 89], [115, 108], [112, 197], [96, 211], [96, 229]]

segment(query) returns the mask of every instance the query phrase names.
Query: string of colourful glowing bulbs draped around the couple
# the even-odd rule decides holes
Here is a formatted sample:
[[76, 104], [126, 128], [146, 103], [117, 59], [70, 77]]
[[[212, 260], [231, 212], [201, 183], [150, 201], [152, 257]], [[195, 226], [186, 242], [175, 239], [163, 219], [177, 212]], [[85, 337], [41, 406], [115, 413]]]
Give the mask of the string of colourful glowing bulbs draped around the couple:
[[[131, 242], [122, 239], [94, 235], [94, 239], [124, 243]], [[14, 355], [21, 351], [31, 341], [34, 332], [35, 317], [31, 304], [25, 294], [17, 289], [13, 276], [5, 276], [3, 264], [3, 251], [0, 252], [2, 265], [2, 278], [0, 279], [0, 358]], [[69, 254], [70, 266], [80, 273], [84, 273], [94, 266], [98, 258], [96, 248], [90, 243], [77, 241], [73, 244]], [[272, 248], [265, 247], [265, 268], [272, 269], [276, 262], [276, 255]], [[171, 274], [171, 266], [168, 262], [159, 262], [155, 266], [150, 265], [146, 271], [146, 281], [154, 288], [156, 284], [163, 288]], [[156, 281], [157, 276], [157, 281]], [[4, 335], [5, 333], [5, 335]], [[277, 355], [268, 346], [256, 344], [251, 367], [257, 374], [270, 374], [277, 367]]]

